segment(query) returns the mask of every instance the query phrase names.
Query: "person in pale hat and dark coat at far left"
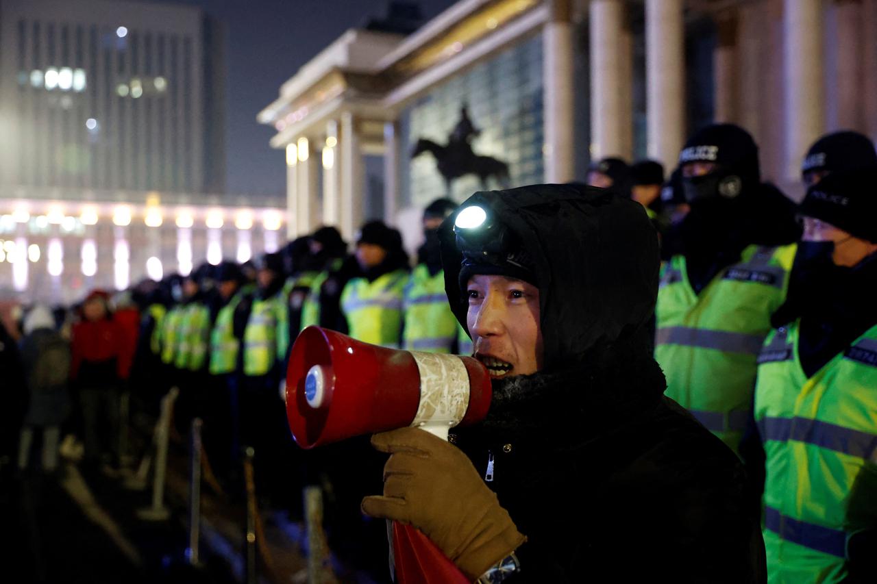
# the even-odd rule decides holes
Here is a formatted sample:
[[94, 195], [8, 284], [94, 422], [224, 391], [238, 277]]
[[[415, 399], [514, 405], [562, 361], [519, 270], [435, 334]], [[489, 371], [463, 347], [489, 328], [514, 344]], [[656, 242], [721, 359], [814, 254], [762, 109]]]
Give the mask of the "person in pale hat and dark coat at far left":
[[70, 414], [70, 345], [55, 330], [51, 310], [41, 304], [27, 313], [24, 329], [20, 351], [30, 402], [18, 442], [18, 468], [30, 466], [33, 435], [42, 431], [42, 469], [52, 473], [58, 466], [61, 423]]

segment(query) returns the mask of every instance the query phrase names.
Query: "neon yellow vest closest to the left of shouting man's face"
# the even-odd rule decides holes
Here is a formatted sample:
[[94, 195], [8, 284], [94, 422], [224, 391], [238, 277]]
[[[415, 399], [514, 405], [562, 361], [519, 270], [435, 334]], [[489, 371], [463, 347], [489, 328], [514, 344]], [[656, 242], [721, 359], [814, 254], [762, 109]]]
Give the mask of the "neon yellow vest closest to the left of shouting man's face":
[[445, 272], [430, 275], [420, 264], [405, 285], [403, 348], [426, 353], [451, 353], [460, 324], [445, 294]]

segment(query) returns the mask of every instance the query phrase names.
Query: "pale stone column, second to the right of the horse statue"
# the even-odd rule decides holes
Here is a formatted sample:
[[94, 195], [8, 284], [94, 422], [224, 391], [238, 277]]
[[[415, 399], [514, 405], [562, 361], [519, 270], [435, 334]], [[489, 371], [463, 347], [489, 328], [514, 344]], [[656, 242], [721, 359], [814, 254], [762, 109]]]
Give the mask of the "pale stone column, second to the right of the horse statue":
[[[625, 120], [631, 112], [624, 111], [624, 4], [619, 0], [592, 0], [590, 4], [591, 61], [591, 145], [593, 160], [607, 156], [630, 156], [625, 152]], [[627, 129], [626, 133], [630, 133]]]

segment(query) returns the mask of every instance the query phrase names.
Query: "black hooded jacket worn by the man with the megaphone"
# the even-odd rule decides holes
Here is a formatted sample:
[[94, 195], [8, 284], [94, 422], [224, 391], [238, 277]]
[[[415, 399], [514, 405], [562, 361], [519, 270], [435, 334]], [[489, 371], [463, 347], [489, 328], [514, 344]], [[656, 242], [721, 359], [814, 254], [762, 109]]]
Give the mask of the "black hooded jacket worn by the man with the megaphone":
[[[527, 536], [521, 582], [761, 582], [764, 544], [734, 454], [675, 402], [652, 359], [657, 235], [601, 189], [476, 193], [526, 249], [545, 367], [494, 382], [486, 420], [456, 443]], [[455, 216], [446, 291], [466, 325]], [[510, 580], [512, 581], [512, 580]]]

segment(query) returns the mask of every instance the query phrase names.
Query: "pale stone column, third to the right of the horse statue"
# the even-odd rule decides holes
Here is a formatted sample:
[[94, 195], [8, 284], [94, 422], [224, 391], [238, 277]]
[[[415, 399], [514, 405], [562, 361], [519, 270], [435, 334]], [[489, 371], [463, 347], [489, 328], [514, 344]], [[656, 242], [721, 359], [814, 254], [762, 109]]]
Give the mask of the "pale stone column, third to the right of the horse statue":
[[674, 167], [685, 133], [685, 25], [682, 0], [645, 2], [648, 155]]

